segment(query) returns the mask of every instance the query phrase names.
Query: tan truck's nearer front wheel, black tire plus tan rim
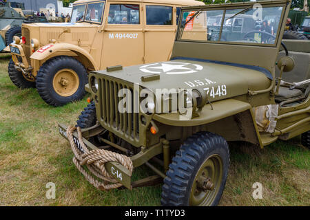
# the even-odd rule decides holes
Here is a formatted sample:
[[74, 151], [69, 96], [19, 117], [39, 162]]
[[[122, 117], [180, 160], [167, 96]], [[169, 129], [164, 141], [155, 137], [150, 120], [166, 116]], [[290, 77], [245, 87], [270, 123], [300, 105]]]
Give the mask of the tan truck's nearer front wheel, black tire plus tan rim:
[[87, 72], [75, 58], [56, 56], [43, 63], [36, 83], [41, 98], [58, 107], [83, 98]]

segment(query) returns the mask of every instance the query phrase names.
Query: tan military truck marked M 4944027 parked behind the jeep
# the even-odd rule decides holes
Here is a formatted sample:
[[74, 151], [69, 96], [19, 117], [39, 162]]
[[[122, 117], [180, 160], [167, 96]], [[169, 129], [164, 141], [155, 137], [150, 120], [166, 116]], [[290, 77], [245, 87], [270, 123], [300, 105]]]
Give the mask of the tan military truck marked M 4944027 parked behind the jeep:
[[10, 44], [8, 74], [17, 87], [37, 87], [60, 106], [85, 94], [87, 73], [114, 65], [167, 61], [180, 7], [194, 0], [80, 0], [71, 23], [23, 25]]

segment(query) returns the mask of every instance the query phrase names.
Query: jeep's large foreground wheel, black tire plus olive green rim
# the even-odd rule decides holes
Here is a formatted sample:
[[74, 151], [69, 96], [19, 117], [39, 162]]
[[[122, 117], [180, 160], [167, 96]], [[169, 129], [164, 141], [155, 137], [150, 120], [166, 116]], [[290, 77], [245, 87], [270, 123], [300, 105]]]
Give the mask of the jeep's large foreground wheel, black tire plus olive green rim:
[[169, 165], [164, 179], [163, 206], [216, 206], [229, 169], [226, 140], [209, 132], [189, 137]]

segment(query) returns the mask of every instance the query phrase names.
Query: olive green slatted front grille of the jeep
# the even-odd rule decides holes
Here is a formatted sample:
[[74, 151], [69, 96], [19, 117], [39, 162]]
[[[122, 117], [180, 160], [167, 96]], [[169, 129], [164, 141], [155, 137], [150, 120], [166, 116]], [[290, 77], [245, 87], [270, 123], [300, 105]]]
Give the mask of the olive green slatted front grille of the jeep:
[[[100, 115], [99, 121], [109, 131], [133, 145], [139, 141], [138, 113], [134, 113], [133, 85], [130, 83], [116, 83], [107, 78], [99, 79], [99, 104], [96, 111]], [[121, 113], [118, 111], [118, 103], [123, 97], [118, 98], [120, 89], [129, 89], [132, 94], [132, 111]]]

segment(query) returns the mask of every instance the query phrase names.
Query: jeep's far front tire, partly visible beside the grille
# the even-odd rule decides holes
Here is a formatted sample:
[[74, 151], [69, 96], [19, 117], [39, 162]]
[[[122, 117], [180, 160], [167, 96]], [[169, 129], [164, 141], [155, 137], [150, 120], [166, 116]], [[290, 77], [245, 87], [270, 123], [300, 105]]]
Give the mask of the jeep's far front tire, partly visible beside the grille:
[[76, 125], [81, 127], [81, 129], [87, 129], [96, 124], [96, 106], [94, 102], [87, 104], [84, 111], [79, 115], [79, 120], [76, 121]]

